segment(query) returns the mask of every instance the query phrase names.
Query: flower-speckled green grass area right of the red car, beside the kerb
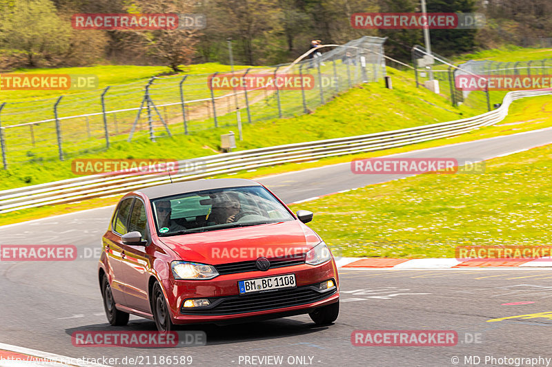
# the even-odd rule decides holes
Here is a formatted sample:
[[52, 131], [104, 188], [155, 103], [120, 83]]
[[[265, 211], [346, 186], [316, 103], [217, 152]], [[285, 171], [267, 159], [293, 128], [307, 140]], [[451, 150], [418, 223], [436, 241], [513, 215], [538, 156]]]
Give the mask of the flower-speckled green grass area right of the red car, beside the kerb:
[[293, 205], [341, 256], [454, 258], [466, 245], [548, 245], [552, 147], [495, 158], [484, 174], [424, 174]]

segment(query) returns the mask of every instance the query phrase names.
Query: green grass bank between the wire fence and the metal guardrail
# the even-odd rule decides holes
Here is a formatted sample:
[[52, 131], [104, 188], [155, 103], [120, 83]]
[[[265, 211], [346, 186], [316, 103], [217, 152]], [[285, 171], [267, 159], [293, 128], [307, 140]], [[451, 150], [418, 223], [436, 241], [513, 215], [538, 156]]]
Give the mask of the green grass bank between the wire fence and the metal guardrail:
[[[238, 149], [384, 132], [475, 114], [464, 106], [451, 107], [445, 98], [424, 88], [416, 89], [409, 76], [403, 72], [390, 69], [388, 74], [393, 77], [393, 90], [387, 90], [383, 81], [367, 83], [318, 107], [314, 114], [244, 123], [244, 140], [237, 141]], [[282, 103], [286, 101], [286, 98], [282, 99]], [[130, 143], [118, 141], [106, 151], [89, 152], [79, 158], [181, 160], [208, 156], [217, 153], [220, 135], [228, 133], [230, 129], [237, 134], [234, 125], [199, 131], [189, 136], [179, 134], [172, 138], [159, 138], [157, 143], [152, 143], [147, 136], [141, 136]], [[71, 172], [71, 160], [11, 165], [8, 170], [0, 170], [0, 188], [36, 185], [71, 177], [75, 177]]]

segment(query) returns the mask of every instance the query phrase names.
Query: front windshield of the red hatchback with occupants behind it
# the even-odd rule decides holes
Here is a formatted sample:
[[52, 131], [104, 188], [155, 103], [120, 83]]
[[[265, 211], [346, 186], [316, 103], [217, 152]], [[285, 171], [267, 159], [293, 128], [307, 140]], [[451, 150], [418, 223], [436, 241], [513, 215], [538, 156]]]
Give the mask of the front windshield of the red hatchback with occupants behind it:
[[247, 227], [293, 220], [291, 213], [260, 186], [183, 193], [152, 200], [161, 236]]

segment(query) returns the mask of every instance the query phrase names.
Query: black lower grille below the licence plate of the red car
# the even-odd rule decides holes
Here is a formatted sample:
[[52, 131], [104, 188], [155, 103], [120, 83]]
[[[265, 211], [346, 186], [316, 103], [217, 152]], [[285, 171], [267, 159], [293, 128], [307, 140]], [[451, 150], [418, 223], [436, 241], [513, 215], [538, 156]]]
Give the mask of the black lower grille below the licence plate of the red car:
[[322, 301], [337, 292], [337, 289], [333, 289], [322, 293], [317, 291], [317, 286], [318, 284], [251, 295], [210, 297], [212, 307], [195, 310], [181, 308], [180, 312], [184, 315], [233, 315], [266, 311]]

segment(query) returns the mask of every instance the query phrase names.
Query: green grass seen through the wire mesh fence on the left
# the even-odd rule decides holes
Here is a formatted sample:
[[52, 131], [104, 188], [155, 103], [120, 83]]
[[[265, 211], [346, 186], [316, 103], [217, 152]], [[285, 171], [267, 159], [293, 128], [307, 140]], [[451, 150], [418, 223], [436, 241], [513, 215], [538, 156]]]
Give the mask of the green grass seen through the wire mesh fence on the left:
[[[210, 64], [208, 67], [204, 66], [202, 68], [192, 68], [195, 68], [195, 70], [191, 71], [210, 70], [213, 72], [219, 69], [223, 72], [228, 72], [228, 67], [219, 68], [217, 64]], [[75, 71], [79, 70], [82, 71], [83, 68], [75, 69]], [[66, 70], [63, 71], [65, 72]], [[333, 85], [324, 87], [322, 96], [318, 87], [306, 90], [304, 96], [301, 91], [297, 90], [248, 92], [251, 120], [273, 120], [277, 117], [293, 117], [313, 111], [325, 101], [333, 98], [335, 94], [348, 90], [349, 85], [357, 85], [360, 81], [359, 69], [344, 65], [340, 61], [337, 61], [335, 64], [325, 63], [325, 65], [322, 65], [320, 71], [326, 77], [337, 76], [339, 80], [338, 85], [335, 87]], [[250, 74], [273, 74], [273, 72], [275, 72], [275, 68], [260, 67], [250, 72]], [[279, 68], [279, 72], [297, 74], [299, 67], [295, 65], [292, 70], [282, 67]], [[317, 70], [308, 70], [305, 67], [302, 72], [304, 74], [314, 74], [318, 81]], [[370, 76], [373, 70], [370, 67], [366, 72]], [[124, 70], [121, 70], [121, 73], [124, 73]], [[208, 75], [210, 74], [187, 74], [186, 81], [184, 81], [183, 75], [156, 78], [149, 88], [153, 103], [159, 107], [159, 113], [164, 116], [173, 133], [181, 132], [183, 129], [179, 90], [181, 81], [184, 82], [182, 89], [183, 98], [187, 102], [186, 114], [189, 132], [195, 133], [210, 130], [217, 123], [219, 127], [235, 125], [236, 102], [239, 103], [242, 112], [245, 113], [244, 107], [246, 101], [243, 94], [235, 98], [230, 96], [231, 91], [228, 90], [215, 90], [212, 93], [207, 83]], [[137, 122], [135, 137], [147, 137], [147, 112], [144, 110], [141, 118], [136, 120], [137, 111], [128, 110], [137, 109], [141, 105], [144, 99], [145, 83], [146, 79], [144, 78], [124, 85], [112, 85], [105, 95], [106, 111], [108, 111], [105, 121], [101, 114], [101, 90], [63, 96], [57, 107], [57, 114], [61, 119], [59, 129], [61, 131], [64, 156], [72, 158], [103, 149], [105, 145], [104, 123], [108, 127], [110, 143], [126, 140], [131, 129], [134, 129], [133, 125], [135, 122]], [[277, 94], [279, 94], [280, 103], [277, 103]], [[0, 118], [3, 127], [6, 127], [4, 129], [4, 137], [6, 140], [8, 165], [57, 159], [57, 129], [53, 121], [53, 106], [57, 99], [55, 98], [56, 96], [52, 95], [49, 99], [37, 101], [34, 101], [32, 98], [24, 101], [9, 101], [3, 108]], [[217, 121], [213, 118], [213, 105], [210, 101], [212, 96], [220, 98], [216, 101]], [[117, 112], [115, 113], [114, 111]], [[85, 114], [86, 116], [82, 116]], [[159, 121], [156, 111], [152, 110], [152, 115], [153, 129], [155, 130], [155, 134], [159, 135], [158, 132], [164, 131], [164, 128]], [[246, 117], [246, 114], [244, 114], [244, 120], [248, 120]], [[41, 123], [21, 125], [21, 123], [33, 121], [41, 121]]]

